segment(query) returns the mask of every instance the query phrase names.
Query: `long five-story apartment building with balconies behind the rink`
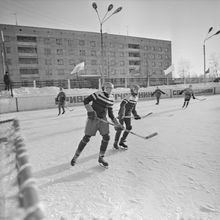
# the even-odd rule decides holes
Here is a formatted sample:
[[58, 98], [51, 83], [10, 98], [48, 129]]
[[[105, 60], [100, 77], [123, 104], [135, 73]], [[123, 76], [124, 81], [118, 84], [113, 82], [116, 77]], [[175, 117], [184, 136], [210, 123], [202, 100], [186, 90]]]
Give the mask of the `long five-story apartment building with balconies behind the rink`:
[[[167, 40], [104, 33], [101, 58], [100, 33], [7, 24], [0, 24], [0, 30], [4, 34], [6, 62], [14, 82], [78, 77], [70, 72], [83, 61], [82, 75], [162, 78], [163, 70], [172, 62], [171, 41]], [[2, 56], [0, 62], [2, 82]]]

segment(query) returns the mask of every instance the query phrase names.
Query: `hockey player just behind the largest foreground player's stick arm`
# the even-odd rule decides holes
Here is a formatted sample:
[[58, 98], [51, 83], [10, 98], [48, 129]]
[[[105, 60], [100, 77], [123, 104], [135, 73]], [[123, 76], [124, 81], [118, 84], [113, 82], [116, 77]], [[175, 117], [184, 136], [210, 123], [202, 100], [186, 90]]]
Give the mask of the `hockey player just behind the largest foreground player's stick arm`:
[[[134, 119], [138, 120], [141, 119], [141, 117], [137, 114], [136, 111], [136, 104], [138, 101], [138, 92], [139, 92], [140, 87], [138, 85], [133, 85], [131, 86], [131, 94], [125, 97], [121, 104], [120, 104], [120, 109], [118, 112], [118, 118], [119, 122], [121, 125], [125, 123], [125, 128], [126, 130], [130, 131], [132, 129], [131, 126], [131, 113], [134, 115]], [[115, 133], [115, 141], [114, 141], [114, 149], [118, 150], [119, 148], [121, 149], [128, 149], [128, 146], [125, 144], [126, 138], [129, 134], [128, 131], [124, 131], [121, 139], [121, 133], [122, 130], [120, 128], [116, 128], [116, 133]], [[119, 141], [120, 139], [120, 141]], [[119, 145], [119, 146], [118, 146]]]

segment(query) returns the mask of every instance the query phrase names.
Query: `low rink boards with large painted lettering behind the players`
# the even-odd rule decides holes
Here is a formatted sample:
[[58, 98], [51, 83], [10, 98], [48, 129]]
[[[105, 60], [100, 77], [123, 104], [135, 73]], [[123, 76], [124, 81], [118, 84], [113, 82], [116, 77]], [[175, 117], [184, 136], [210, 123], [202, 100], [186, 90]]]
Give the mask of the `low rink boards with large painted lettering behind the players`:
[[[161, 86], [166, 94], [162, 95], [161, 98], [172, 98], [182, 96], [179, 92], [187, 87], [187, 85], [175, 85], [175, 86]], [[155, 90], [155, 87], [141, 88], [139, 93], [140, 100], [152, 99], [151, 94]], [[220, 94], [220, 83], [212, 84], [196, 84], [193, 85], [193, 90], [195, 95], [213, 95]], [[115, 101], [121, 101], [127, 94], [129, 90], [121, 90], [120, 92], [115, 92]], [[86, 94], [67, 94], [67, 106], [82, 105], [83, 99]], [[38, 109], [49, 109], [56, 108], [55, 104], [56, 95], [45, 95], [45, 96], [27, 96], [27, 97], [15, 97], [15, 98], [0, 98], [0, 113], [8, 112], [18, 112], [18, 111], [28, 111], [28, 110], [38, 110]]]

